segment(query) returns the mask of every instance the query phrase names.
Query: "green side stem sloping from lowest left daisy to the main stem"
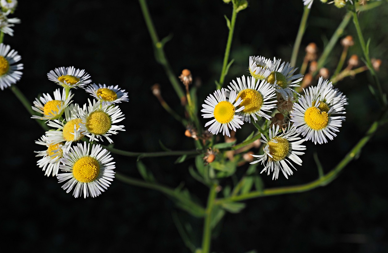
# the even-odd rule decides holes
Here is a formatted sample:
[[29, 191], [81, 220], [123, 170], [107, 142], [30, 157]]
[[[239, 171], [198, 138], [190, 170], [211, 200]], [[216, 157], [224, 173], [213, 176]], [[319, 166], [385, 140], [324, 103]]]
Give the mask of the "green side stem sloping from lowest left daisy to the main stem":
[[166, 187], [166, 186], [163, 186], [160, 184], [149, 183], [149, 182], [145, 182], [145, 181], [138, 180], [135, 178], [127, 177], [119, 172], [116, 172], [114, 177], [117, 178], [118, 180], [120, 180], [121, 182], [126, 183], [126, 184], [135, 185], [135, 186], [144, 187], [144, 188], [153, 189], [153, 190], [162, 192], [165, 195], [167, 195], [168, 197], [173, 198], [173, 199], [177, 199], [179, 202], [185, 204], [186, 206], [191, 207], [193, 210], [196, 210], [199, 213], [203, 213], [203, 214], [205, 213], [205, 210], [202, 206], [191, 201], [189, 198], [184, 197], [182, 194], [175, 191], [174, 189], [171, 189], [170, 187]]

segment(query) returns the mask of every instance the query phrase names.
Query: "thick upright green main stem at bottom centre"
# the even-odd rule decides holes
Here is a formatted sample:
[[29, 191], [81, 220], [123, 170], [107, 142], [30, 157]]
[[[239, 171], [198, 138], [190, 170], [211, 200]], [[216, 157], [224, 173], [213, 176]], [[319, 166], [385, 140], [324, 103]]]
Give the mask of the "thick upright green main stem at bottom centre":
[[210, 252], [210, 243], [211, 243], [211, 212], [213, 211], [214, 200], [216, 198], [217, 185], [213, 184], [210, 188], [208, 204], [205, 211], [205, 221], [203, 226], [203, 237], [202, 237], [202, 251], [201, 253]]

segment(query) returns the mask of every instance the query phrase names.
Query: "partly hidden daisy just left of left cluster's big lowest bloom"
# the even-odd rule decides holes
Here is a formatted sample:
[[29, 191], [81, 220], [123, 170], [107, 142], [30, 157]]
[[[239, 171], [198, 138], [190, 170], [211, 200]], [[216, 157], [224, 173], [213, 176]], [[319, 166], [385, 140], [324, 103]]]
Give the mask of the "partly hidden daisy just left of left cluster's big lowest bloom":
[[35, 151], [35, 153], [38, 153], [36, 157], [43, 156], [38, 160], [37, 165], [45, 171], [45, 176], [49, 177], [51, 173], [53, 177], [56, 176], [59, 170], [59, 159], [62, 158], [63, 153], [62, 144], [64, 143], [50, 144], [46, 135], [40, 137], [35, 143], [47, 147], [44, 151]]

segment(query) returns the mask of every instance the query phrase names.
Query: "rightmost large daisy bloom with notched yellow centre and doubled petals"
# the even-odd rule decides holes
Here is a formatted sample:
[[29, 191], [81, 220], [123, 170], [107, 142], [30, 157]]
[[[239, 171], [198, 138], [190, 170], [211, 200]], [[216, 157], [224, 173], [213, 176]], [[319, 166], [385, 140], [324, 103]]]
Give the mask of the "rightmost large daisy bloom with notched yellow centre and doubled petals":
[[344, 116], [334, 115], [345, 113], [346, 96], [334, 89], [331, 83], [322, 80], [319, 80], [319, 89], [309, 87], [305, 90], [305, 96], [294, 103], [290, 114], [296, 130], [314, 144], [326, 143], [326, 137], [333, 140], [337, 136], [335, 132], [340, 131], [338, 127], [345, 121]]

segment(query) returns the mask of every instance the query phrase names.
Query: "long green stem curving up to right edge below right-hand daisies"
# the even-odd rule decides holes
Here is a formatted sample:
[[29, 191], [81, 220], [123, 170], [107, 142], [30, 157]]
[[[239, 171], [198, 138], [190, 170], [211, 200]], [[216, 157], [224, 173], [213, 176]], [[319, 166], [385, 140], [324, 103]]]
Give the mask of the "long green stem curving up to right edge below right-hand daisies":
[[338, 173], [341, 172], [345, 166], [352, 161], [357, 154], [361, 151], [362, 147], [367, 144], [367, 142], [371, 139], [373, 134], [376, 132], [378, 127], [385, 121], [387, 112], [383, 114], [383, 116], [380, 117], [379, 120], [376, 120], [373, 122], [369, 130], [366, 132], [365, 136], [362, 137], [362, 139], [359, 140], [359, 142], [346, 154], [346, 156], [338, 163], [337, 166], [334, 167], [333, 170], [331, 170], [326, 175], [323, 175], [322, 177], [319, 177], [317, 180], [314, 180], [307, 184], [302, 185], [294, 185], [294, 186], [288, 186], [288, 187], [277, 187], [277, 188], [270, 188], [270, 189], [264, 189], [263, 191], [253, 191], [248, 192], [246, 194], [241, 194], [239, 196], [234, 196], [230, 198], [224, 198], [219, 199], [216, 201], [216, 204], [222, 204], [224, 202], [228, 201], [242, 201], [246, 199], [253, 199], [258, 197], [264, 197], [264, 196], [271, 196], [271, 195], [280, 195], [280, 194], [291, 194], [294, 192], [305, 192], [310, 191], [312, 189], [315, 189], [320, 186], [324, 186], [329, 184], [331, 181], [333, 181]]

